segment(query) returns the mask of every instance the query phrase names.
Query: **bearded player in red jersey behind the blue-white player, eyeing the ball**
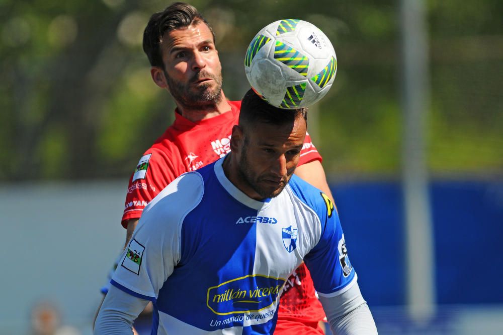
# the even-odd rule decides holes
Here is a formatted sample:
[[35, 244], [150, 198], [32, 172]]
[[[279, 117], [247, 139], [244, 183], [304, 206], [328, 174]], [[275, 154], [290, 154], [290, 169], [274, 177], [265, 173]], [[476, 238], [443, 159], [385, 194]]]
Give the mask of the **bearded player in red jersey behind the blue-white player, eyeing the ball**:
[[[224, 156], [240, 102], [226, 100], [214, 34], [197, 10], [176, 3], [155, 13], [145, 28], [143, 50], [151, 76], [174, 97], [175, 122], [141, 157], [130, 178], [122, 225], [126, 245], [143, 208], [180, 174]], [[331, 197], [321, 156], [306, 136], [295, 173]], [[324, 318], [305, 265], [289, 278], [281, 297], [275, 334], [322, 334]]]

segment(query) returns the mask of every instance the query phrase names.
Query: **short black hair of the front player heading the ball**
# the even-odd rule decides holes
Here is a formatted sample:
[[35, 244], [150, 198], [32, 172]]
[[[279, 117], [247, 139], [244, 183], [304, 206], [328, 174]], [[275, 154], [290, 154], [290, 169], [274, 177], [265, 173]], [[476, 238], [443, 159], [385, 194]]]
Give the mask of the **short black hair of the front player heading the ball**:
[[274, 107], [262, 99], [253, 89], [248, 90], [241, 102], [239, 112], [239, 125], [241, 127], [251, 127], [259, 123], [283, 125], [294, 122], [302, 116], [307, 124], [307, 108], [283, 109]]

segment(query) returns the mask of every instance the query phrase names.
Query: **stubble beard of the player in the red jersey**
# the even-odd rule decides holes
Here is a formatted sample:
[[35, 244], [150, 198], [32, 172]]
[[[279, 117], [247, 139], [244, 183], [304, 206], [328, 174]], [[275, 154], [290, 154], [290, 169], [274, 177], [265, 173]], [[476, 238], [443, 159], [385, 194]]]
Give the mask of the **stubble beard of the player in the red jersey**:
[[[175, 100], [186, 109], [204, 109], [208, 106], [215, 106], [222, 101], [222, 74], [211, 75], [206, 72], [197, 73], [191, 80], [185, 84], [171, 79], [164, 70], [167, 86]], [[195, 90], [191, 84], [201, 78], [211, 78], [217, 85], [211, 88], [211, 83], [202, 83]]]

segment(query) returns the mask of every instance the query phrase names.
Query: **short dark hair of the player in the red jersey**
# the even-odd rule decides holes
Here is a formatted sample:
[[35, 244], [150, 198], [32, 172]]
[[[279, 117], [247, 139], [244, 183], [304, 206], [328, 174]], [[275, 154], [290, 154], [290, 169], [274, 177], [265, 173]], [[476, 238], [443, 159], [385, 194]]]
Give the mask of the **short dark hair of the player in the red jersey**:
[[213, 29], [211, 29], [206, 19], [192, 5], [174, 3], [166, 7], [162, 12], [154, 13], [150, 17], [145, 31], [143, 32], [143, 51], [146, 53], [150, 65], [160, 66], [164, 69], [160, 43], [162, 42], [162, 36], [164, 36], [166, 32], [187, 28], [192, 24], [201, 22], [211, 31], [213, 42], [215, 42], [215, 33], [213, 33]]

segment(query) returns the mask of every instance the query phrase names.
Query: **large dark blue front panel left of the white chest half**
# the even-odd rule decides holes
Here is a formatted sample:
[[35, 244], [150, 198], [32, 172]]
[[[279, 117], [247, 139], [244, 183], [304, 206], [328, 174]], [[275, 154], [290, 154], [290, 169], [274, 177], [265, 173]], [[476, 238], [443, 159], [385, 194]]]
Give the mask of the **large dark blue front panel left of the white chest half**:
[[[244, 311], [265, 308], [277, 296], [250, 302], [248, 291], [283, 282], [253, 275], [256, 224], [237, 222], [242, 217], [257, 216], [257, 210], [239, 203], [222, 187], [213, 164], [197, 172], [204, 179], [205, 192], [183, 221], [180, 262], [159, 291], [157, 307], [160, 312], [208, 331], [242, 326]], [[215, 212], [219, 209], [225, 210]], [[263, 331], [264, 326], [268, 327], [256, 327]]]

